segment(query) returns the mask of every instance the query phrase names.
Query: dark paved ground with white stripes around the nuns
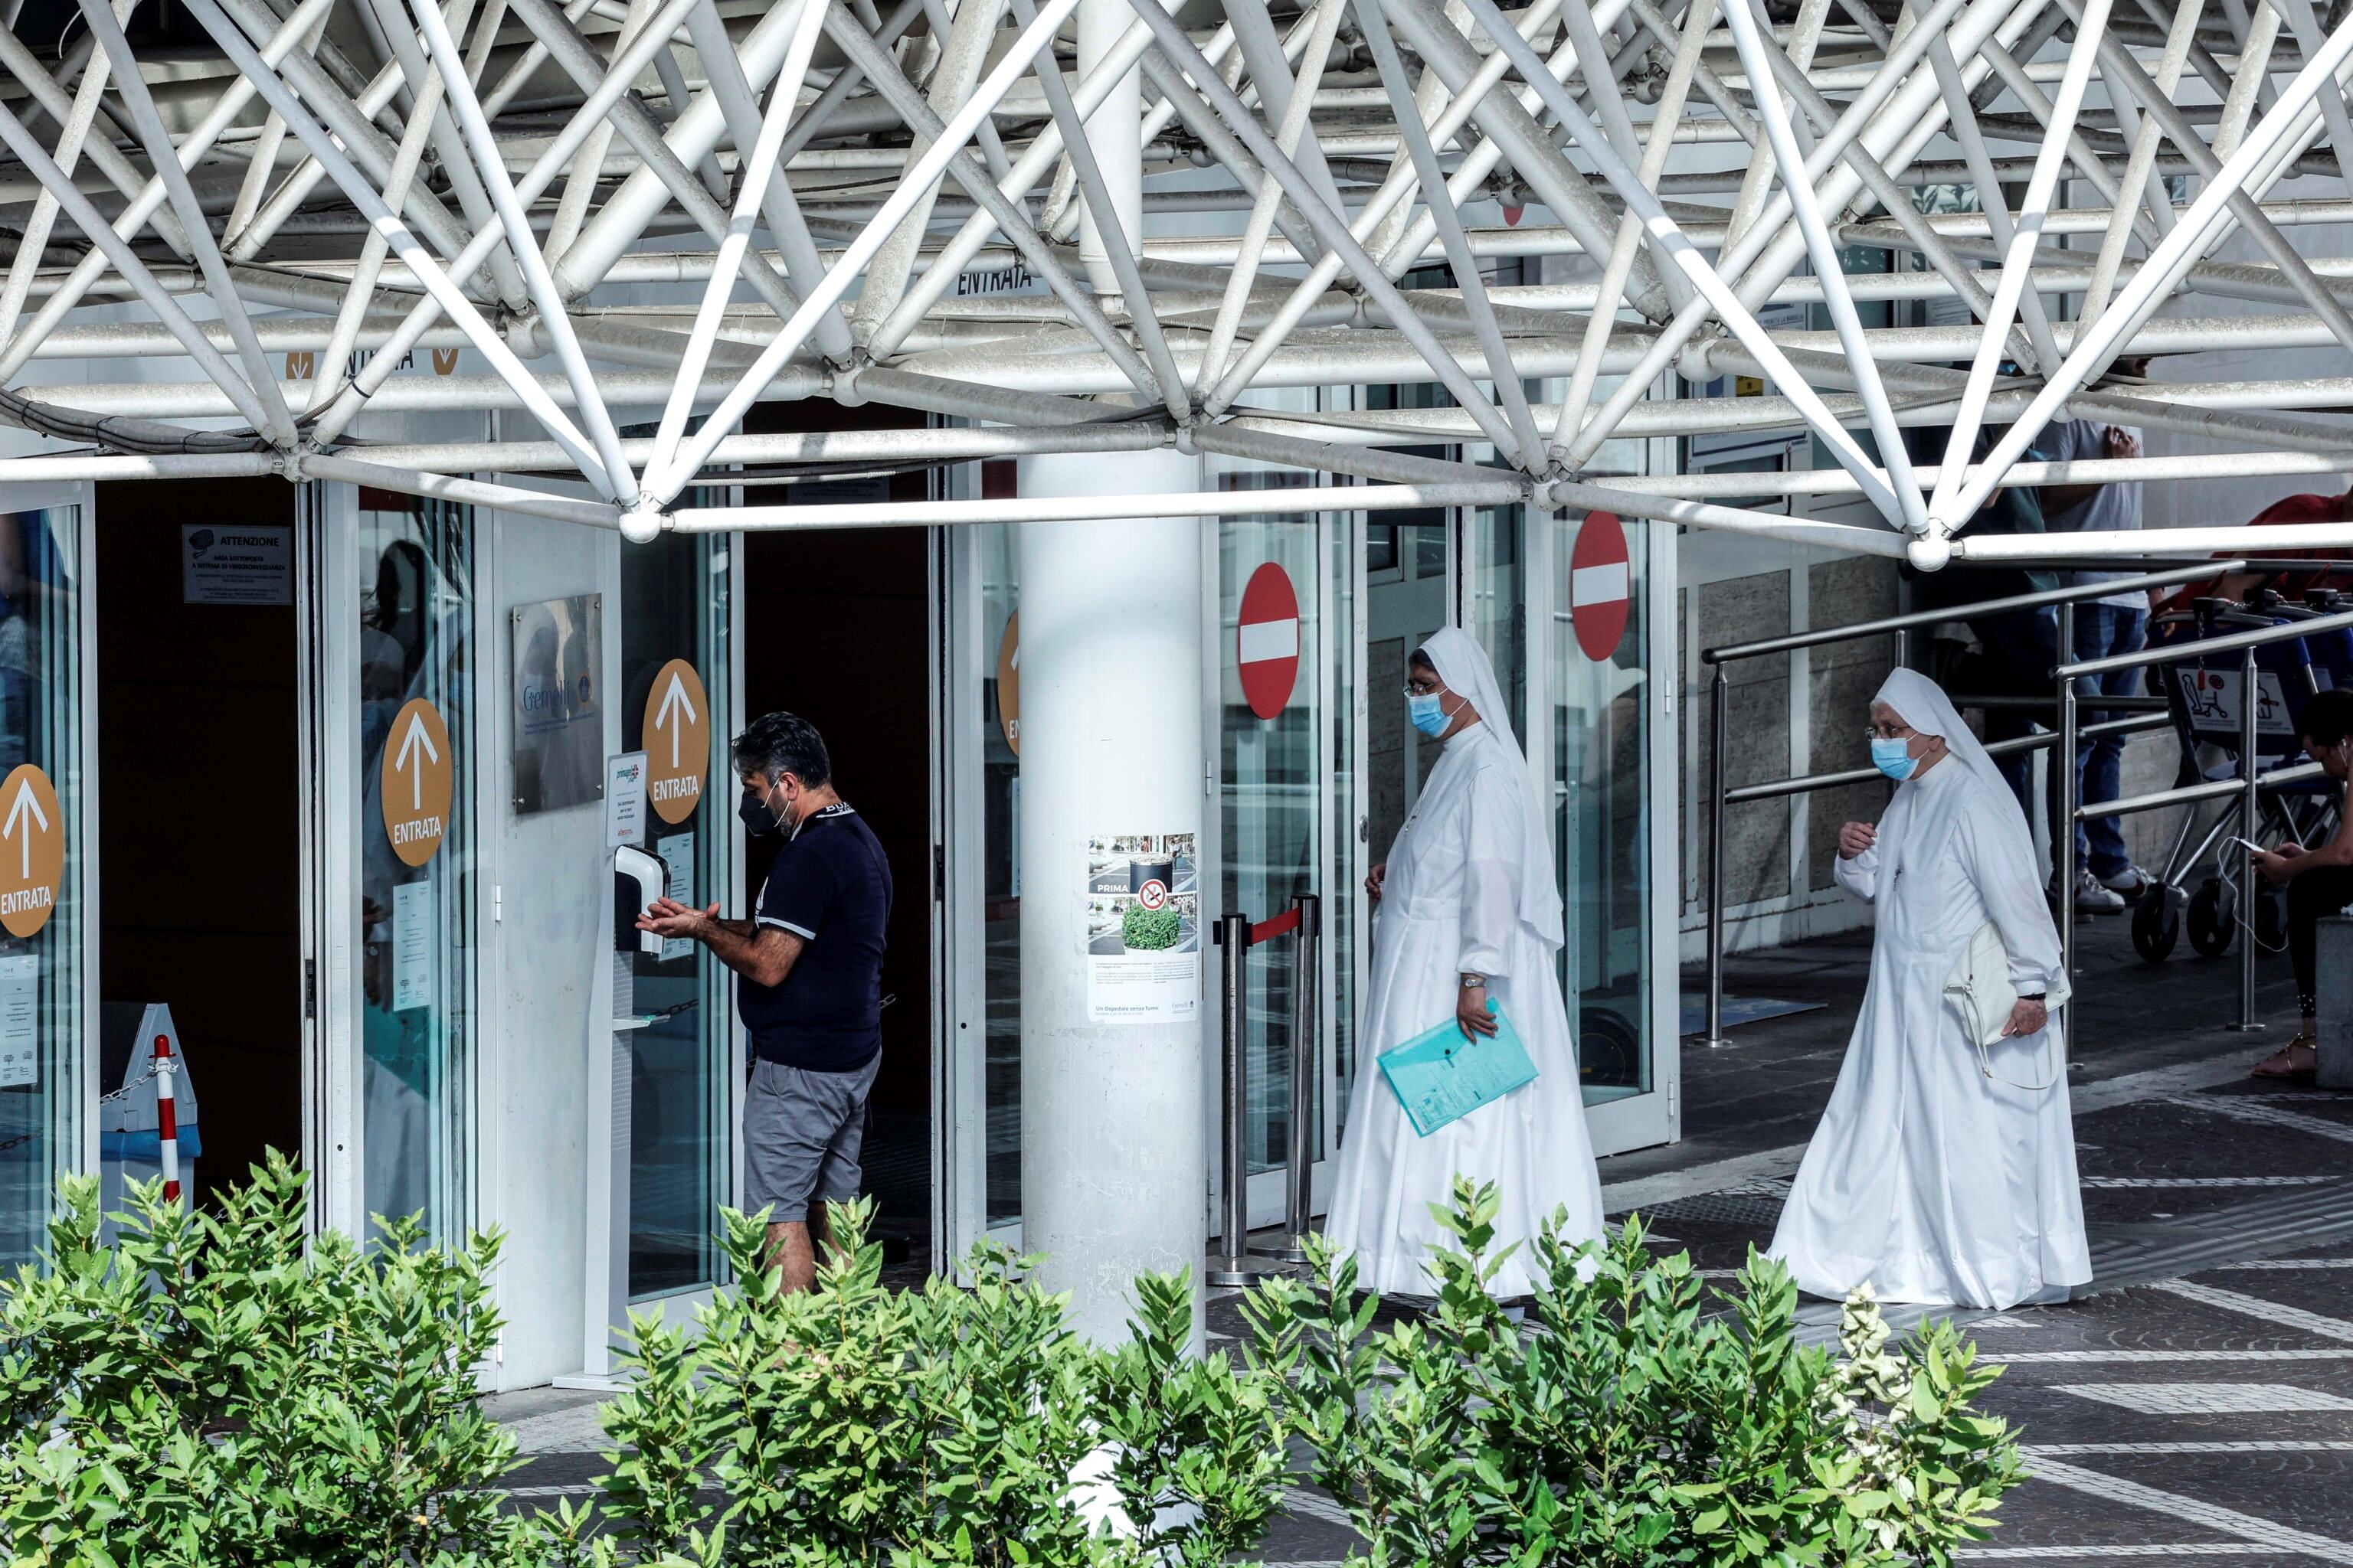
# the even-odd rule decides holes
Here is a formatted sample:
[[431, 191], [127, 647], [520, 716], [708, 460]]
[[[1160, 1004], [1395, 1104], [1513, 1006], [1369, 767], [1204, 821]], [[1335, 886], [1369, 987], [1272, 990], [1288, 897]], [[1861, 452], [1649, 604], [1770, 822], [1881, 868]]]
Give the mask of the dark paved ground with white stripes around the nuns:
[[[1864, 990], [1868, 933], [1729, 964], [1744, 997], [1824, 1001], [1685, 1048], [1685, 1140], [1602, 1164], [1614, 1213], [1661, 1246], [1737, 1267], [1772, 1234], [1831, 1093]], [[2061, 1307], [1958, 1314], [2005, 1363], [1986, 1403], [2024, 1429], [2033, 1481], [1972, 1561], [2155, 1556], [2353, 1563], [2353, 1095], [2247, 1079], [2292, 1032], [2266, 957], [2264, 1034], [2233, 1034], [2235, 954], [2144, 966], [2120, 919], [2089, 924], [2071, 1051], [2085, 1215], [2099, 1279]], [[1687, 978], [1697, 983], [1697, 978]], [[1826, 1333], [1835, 1309], [1807, 1309]], [[1231, 1298], [1212, 1333], [1238, 1331]], [[494, 1401], [534, 1462], [527, 1500], [602, 1469], [593, 1396]], [[1353, 1533], [1294, 1493], [1268, 1563], [1339, 1563]]]

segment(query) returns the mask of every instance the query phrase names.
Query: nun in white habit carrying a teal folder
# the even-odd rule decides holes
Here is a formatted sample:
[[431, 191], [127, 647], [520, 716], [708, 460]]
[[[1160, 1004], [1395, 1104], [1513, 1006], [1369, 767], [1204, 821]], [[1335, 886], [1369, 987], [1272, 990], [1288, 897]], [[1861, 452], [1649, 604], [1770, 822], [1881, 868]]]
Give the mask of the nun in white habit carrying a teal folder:
[[[1431, 1253], [1447, 1241], [1431, 1206], [1449, 1199], [1457, 1175], [1494, 1182], [1504, 1204], [1497, 1248], [1520, 1248], [1492, 1291], [1527, 1295], [1529, 1244], [1555, 1208], [1567, 1211], [1567, 1241], [1602, 1232], [1577, 1041], [1560, 997], [1551, 837], [1478, 642], [1440, 630], [1407, 675], [1414, 729], [1445, 741], [1445, 752], [1388, 860], [1367, 879], [1379, 924], [1365, 983], [1365, 1053], [1325, 1232], [1355, 1253], [1365, 1288], [1428, 1295]], [[1449, 1020], [1492, 1032], [1489, 999], [1518, 1030], [1537, 1081], [1421, 1138], [1372, 1058]]]

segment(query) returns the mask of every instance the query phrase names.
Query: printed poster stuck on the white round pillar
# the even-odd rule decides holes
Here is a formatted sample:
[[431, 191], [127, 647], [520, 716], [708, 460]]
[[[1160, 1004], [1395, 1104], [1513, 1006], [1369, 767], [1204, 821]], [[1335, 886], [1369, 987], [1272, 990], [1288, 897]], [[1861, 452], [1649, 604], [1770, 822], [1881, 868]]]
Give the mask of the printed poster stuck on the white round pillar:
[[1087, 839], [1087, 1020], [1200, 1013], [1200, 856], [1191, 832]]

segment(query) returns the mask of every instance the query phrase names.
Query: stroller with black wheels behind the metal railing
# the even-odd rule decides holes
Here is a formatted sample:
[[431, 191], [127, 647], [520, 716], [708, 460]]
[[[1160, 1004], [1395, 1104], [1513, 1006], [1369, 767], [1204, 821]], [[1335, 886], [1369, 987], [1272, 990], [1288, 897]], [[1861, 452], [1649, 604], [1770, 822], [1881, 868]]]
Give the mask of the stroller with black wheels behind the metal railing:
[[[2301, 602], [2289, 602], [2273, 588], [2257, 588], [2247, 592], [2245, 602], [2207, 597], [2195, 599], [2188, 609], [2167, 611], [2151, 623], [2148, 642], [2151, 646], [2205, 642], [2311, 621], [2341, 609], [2353, 609], [2353, 602], [2334, 588], [2311, 588]], [[2165, 705], [2181, 741], [2177, 788], [2202, 780], [2245, 780], [2247, 766], [2254, 766], [2257, 778], [2261, 778], [2301, 764], [2304, 748], [2297, 745], [2297, 719], [2315, 691], [2353, 686], [2353, 635], [2346, 628], [2332, 628], [2313, 637], [2289, 637], [2259, 646], [2254, 670], [2257, 755], [2247, 759], [2240, 755], [2245, 654], [2155, 665], [2153, 672], [2165, 689]], [[2337, 799], [2339, 795], [2327, 778], [2261, 785], [2257, 837], [2318, 844], [2334, 832]], [[2249, 891], [2240, 886], [2242, 860], [2231, 846], [2231, 839], [2238, 837], [2238, 820], [2240, 804], [2235, 799], [2193, 804], [2184, 816], [2160, 884], [2144, 893], [2132, 910], [2132, 945], [2146, 961], [2162, 964], [2184, 926], [2188, 926], [2191, 947], [2205, 957], [2228, 952], [2242, 922], [2252, 922], [2249, 929], [2264, 947], [2278, 950], [2285, 940], [2287, 905], [2278, 889]], [[2247, 893], [2245, 900], [2242, 893]], [[2242, 903], [2249, 905], [2245, 912]]]

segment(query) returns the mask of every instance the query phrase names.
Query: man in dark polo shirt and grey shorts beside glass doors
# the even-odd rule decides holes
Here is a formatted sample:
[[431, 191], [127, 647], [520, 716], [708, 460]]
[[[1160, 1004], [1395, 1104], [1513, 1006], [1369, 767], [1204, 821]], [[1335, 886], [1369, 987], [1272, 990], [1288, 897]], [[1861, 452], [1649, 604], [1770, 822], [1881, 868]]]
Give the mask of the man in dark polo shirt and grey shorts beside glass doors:
[[[687, 936], [736, 971], [751, 1034], [744, 1098], [746, 1208], [767, 1208], [767, 1246], [786, 1291], [816, 1281], [824, 1208], [859, 1194], [866, 1093], [882, 1060], [882, 929], [889, 863], [833, 792], [816, 726], [791, 712], [755, 719], [734, 743], [753, 835], [784, 835], [751, 919], [656, 898], [642, 931]], [[812, 1222], [819, 1234], [812, 1237]]]

